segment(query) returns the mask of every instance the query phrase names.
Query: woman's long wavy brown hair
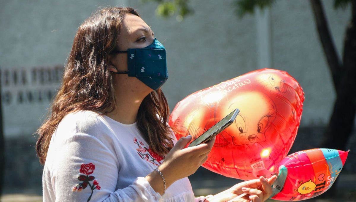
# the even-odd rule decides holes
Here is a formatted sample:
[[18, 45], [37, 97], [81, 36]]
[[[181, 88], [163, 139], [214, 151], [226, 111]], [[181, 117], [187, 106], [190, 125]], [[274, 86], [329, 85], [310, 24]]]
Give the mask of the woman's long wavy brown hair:
[[[72, 51], [64, 67], [62, 85], [54, 98], [36, 143], [40, 163], [45, 164], [49, 142], [59, 122], [78, 110], [98, 110], [107, 114], [115, 110], [112, 73], [106, 59], [114, 51], [125, 14], [140, 15], [130, 7], [110, 7], [96, 11], [79, 26]], [[150, 148], [164, 156], [173, 147], [167, 99], [161, 89], [147, 95], [137, 115], [137, 126]]]

